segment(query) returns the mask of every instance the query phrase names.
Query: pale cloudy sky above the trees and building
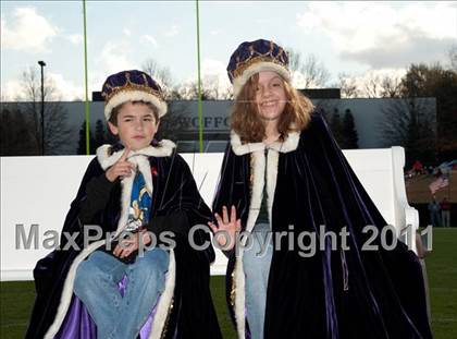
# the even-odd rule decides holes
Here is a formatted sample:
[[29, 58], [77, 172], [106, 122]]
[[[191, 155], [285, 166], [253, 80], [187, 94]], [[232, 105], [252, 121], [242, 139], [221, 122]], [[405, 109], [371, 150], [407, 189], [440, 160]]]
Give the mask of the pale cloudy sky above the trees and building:
[[[153, 58], [175, 83], [197, 76], [195, 1], [88, 1], [89, 93], [104, 78]], [[447, 63], [457, 44], [457, 1], [200, 1], [203, 75], [227, 86], [226, 64], [243, 41], [273, 39], [313, 53], [332, 75], [404, 74], [412, 62]], [[45, 72], [62, 99], [83, 98], [82, 1], [1, 1], [1, 90], [13, 99], [29, 66]], [[299, 86], [299, 81], [295, 84]]]

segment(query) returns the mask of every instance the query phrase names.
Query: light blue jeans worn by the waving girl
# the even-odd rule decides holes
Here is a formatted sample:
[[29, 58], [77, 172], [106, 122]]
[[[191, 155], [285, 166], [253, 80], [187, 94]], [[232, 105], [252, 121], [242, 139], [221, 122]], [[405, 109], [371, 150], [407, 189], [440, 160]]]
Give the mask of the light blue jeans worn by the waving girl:
[[251, 234], [252, 245], [247, 246], [243, 255], [246, 311], [252, 339], [263, 339], [268, 277], [273, 255], [273, 242], [267, 238], [269, 230], [268, 223], [256, 225]]

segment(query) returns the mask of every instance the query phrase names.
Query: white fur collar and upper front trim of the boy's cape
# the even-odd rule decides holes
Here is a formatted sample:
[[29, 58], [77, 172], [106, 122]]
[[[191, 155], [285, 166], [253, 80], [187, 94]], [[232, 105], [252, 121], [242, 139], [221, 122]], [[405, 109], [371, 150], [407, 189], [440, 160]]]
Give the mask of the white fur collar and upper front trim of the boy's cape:
[[[139, 150], [131, 150], [128, 154], [127, 160], [136, 165], [136, 168], [140, 171], [145, 178], [146, 189], [148, 193], [152, 196], [153, 186], [152, 186], [152, 174], [149, 165], [149, 157], [169, 157], [173, 153], [173, 148], [176, 145], [168, 140], [163, 140], [159, 143], [158, 147], [148, 146]], [[110, 145], [102, 145], [97, 149], [97, 159], [100, 162], [100, 166], [103, 170], [107, 170], [109, 167], [113, 166], [124, 154], [125, 148], [110, 155]], [[135, 180], [134, 173], [129, 177], [125, 177], [121, 181], [122, 194], [121, 194], [121, 217], [119, 219], [118, 229], [114, 234], [116, 237], [122, 232], [122, 230], [127, 225], [128, 220], [128, 208], [132, 197], [132, 187]]]

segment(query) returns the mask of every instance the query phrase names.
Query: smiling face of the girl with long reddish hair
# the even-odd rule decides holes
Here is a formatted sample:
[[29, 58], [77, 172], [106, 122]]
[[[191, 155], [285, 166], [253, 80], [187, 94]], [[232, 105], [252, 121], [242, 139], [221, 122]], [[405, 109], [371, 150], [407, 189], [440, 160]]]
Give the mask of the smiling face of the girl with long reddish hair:
[[286, 105], [286, 93], [282, 77], [273, 71], [259, 72], [256, 104], [262, 120], [279, 120]]

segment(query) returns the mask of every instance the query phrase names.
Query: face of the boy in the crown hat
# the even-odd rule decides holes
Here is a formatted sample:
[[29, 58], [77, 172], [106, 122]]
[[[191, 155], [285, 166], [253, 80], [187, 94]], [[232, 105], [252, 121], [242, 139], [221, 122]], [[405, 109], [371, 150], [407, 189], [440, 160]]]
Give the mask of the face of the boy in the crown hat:
[[153, 112], [144, 104], [125, 102], [118, 113], [118, 125], [108, 122], [111, 133], [133, 150], [150, 145], [159, 128]]

